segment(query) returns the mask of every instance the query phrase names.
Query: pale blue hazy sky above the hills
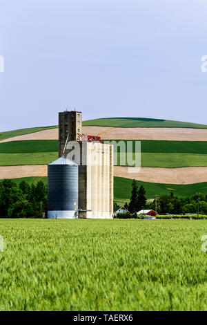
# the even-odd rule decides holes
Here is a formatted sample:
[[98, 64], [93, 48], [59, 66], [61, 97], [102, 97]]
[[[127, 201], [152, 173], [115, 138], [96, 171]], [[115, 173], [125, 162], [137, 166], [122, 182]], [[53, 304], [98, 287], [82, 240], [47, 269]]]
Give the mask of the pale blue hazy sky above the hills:
[[0, 131], [141, 117], [207, 124], [207, 0], [0, 0]]

